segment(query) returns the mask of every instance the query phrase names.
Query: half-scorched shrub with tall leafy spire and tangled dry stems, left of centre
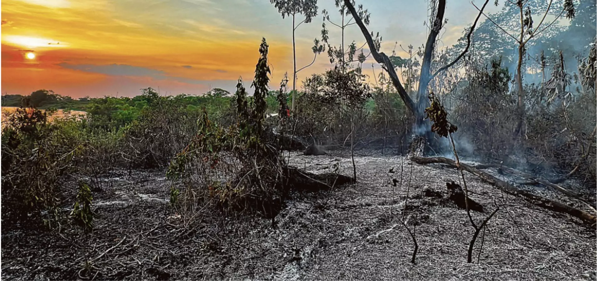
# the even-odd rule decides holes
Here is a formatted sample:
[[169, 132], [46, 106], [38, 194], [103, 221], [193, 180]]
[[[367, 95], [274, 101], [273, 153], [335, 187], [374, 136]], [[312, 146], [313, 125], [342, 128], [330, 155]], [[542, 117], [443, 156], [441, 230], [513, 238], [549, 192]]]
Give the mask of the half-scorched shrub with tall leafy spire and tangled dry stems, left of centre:
[[[171, 161], [167, 172], [173, 182], [171, 202], [182, 214], [193, 214], [204, 204], [257, 210], [267, 205], [264, 202], [281, 197], [284, 160], [269, 145], [273, 139], [264, 124], [269, 81], [265, 39], [260, 53], [253, 99], [247, 98], [239, 79], [232, 100], [236, 123], [219, 126], [204, 108], [196, 136]], [[174, 186], [178, 184], [183, 186], [180, 193]]]

